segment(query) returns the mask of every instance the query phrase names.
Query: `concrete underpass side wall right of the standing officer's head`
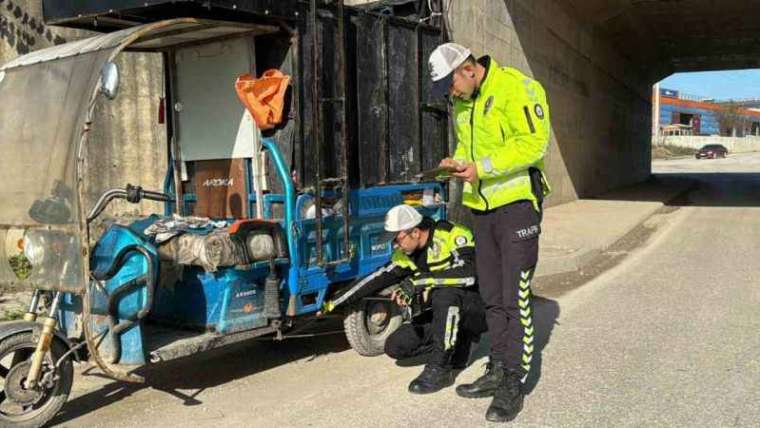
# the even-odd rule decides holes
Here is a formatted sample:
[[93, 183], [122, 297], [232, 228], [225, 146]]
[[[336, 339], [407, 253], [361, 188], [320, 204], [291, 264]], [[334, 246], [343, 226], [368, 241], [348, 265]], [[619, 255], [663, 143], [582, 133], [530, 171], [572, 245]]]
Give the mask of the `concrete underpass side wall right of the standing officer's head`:
[[553, 130], [549, 204], [650, 174], [651, 87], [564, 2], [455, 0], [450, 19], [454, 41], [545, 86]]

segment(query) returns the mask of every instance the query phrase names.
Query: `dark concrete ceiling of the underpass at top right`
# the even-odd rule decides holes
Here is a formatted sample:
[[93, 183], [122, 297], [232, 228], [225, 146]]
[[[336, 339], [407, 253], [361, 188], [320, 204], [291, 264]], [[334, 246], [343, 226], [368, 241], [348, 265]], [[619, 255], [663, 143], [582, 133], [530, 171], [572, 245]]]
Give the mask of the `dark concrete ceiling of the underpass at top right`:
[[760, 4], [752, 0], [570, 0], [625, 57], [674, 72], [760, 67]]

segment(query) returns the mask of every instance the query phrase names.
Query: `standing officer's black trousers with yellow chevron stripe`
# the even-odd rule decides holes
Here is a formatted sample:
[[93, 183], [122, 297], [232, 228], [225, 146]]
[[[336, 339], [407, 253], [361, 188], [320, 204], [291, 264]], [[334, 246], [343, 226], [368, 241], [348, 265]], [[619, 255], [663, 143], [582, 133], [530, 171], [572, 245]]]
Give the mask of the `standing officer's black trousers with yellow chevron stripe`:
[[538, 261], [541, 220], [530, 201], [473, 213], [475, 264], [491, 358], [527, 375], [535, 334], [530, 283]]

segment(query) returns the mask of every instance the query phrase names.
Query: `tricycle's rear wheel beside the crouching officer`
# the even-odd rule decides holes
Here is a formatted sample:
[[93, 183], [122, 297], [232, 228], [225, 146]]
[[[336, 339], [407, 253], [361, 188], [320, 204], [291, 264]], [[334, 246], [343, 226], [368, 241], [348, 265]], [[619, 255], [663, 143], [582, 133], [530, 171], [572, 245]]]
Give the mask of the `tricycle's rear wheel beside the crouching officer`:
[[[378, 322], [377, 318], [380, 312], [384, 312], [382, 322]], [[385, 340], [403, 321], [401, 309], [394, 303], [363, 300], [349, 308], [343, 320], [343, 329], [354, 351], [365, 357], [374, 357], [385, 352]]]

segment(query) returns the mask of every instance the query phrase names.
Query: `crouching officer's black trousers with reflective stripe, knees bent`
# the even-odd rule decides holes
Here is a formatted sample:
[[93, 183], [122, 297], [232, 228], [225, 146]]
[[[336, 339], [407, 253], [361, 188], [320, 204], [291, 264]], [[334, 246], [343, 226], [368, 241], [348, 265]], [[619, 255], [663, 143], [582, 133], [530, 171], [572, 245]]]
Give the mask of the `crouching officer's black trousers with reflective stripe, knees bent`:
[[385, 353], [395, 359], [430, 353], [429, 364], [466, 363], [472, 339], [487, 329], [485, 307], [474, 288], [441, 287], [430, 293], [431, 308], [394, 331]]

